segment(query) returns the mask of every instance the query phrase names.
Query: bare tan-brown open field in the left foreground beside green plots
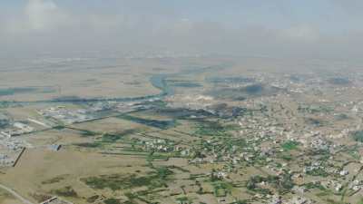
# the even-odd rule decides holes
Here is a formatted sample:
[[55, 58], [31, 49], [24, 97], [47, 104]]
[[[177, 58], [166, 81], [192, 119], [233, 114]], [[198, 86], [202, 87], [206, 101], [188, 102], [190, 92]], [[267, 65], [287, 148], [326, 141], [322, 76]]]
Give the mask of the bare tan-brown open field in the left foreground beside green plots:
[[[32, 195], [52, 195], [52, 190], [72, 186], [76, 198], [67, 198], [74, 203], [83, 204], [83, 198], [93, 196], [93, 189], [84, 185], [80, 179], [100, 174], [132, 173], [145, 164], [144, 160], [130, 156], [105, 156], [92, 152], [80, 152], [67, 149], [64, 151], [28, 150], [18, 165], [0, 176], [1, 183], [16, 189], [25, 198], [34, 200]], [[128, 167], [132, 166], [132, 167]], [[144, 169], [144, 167], [142, 167]], [[20, 176], [20, 178], [19, 178]], [[43, 184], [56, 177], [63, 179]], [[43, 182], [43, 183], [42, 183]], [[110, 192], [103, 191], [103, 194]], [[41, 201], [41, 200], [34, 200]]]

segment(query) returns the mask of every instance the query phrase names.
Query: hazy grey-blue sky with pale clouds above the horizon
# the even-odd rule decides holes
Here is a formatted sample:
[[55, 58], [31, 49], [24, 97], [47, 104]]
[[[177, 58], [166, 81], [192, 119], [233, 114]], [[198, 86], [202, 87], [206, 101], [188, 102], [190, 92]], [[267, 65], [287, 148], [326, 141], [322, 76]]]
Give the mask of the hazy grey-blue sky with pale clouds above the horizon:
[[361, 0], [1, 0], [0, 55], [171, 51], [358, 59]]

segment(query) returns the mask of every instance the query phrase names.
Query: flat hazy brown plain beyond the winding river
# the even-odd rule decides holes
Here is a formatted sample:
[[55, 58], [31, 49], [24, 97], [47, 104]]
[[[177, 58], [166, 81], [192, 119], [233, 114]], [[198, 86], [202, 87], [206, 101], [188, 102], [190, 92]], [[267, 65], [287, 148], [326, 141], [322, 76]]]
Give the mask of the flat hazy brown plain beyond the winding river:
[[[189, 66], [205, 64], [196, 59], [114, 59], [77, 63], [29, 62], [27, 66], [4, 69], [0, 89], [34, 88], [29, 92], [0, 95], [2, 101], [40, 101], [64, 96], [80, 98], [135, 97], [159, 93], [149, 78], [156, 73], [176, 73]], [[16, 79], [16, 80], [14, 80]]]

